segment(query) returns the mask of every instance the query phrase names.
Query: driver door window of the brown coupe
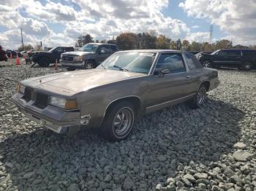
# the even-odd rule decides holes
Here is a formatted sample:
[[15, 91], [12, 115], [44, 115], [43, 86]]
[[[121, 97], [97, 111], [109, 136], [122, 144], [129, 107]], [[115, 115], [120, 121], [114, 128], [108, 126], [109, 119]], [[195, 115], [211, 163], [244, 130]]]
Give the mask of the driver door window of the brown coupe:
[[157, 61], [155, 71], [169, 69], [170, 74], [186, 71], [183, 58], [179, 53], [162, 53]]

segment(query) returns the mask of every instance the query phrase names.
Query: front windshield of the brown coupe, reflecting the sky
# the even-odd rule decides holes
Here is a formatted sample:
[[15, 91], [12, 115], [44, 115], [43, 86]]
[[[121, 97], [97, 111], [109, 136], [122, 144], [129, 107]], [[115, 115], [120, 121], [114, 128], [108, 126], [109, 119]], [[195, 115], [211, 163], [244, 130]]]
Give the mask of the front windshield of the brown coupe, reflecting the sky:
[[117, 52], [102, 62], [98, 68], [148, 74], [155, 55], [151, 52]]

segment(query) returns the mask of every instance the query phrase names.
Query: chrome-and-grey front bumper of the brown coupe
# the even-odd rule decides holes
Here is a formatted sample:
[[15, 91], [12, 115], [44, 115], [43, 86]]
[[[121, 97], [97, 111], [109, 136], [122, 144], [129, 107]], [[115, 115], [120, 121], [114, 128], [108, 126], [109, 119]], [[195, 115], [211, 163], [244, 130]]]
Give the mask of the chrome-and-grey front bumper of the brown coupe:
[[56, 133], [67, 133], [69, 128], [78, 128], [83, 125], [83, 119], [80, 112], [67, 112], [54, 106], [47, 106], [45, 109], [39, 109], [34, 106], [34, 101], [26, 102], [22, 98], [23, 94], [15, 93], [12, 101], [18, 110], [22, 112], [29, 120], [37, 122], [44, 128], [53, 130]]

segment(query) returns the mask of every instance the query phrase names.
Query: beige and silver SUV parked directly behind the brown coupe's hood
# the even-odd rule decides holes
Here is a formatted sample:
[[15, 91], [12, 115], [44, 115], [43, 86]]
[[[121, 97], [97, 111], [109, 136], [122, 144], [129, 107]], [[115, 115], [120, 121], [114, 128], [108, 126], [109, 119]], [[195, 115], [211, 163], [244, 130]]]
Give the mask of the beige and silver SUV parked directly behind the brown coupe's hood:
[[116, 44], [89, 43], [78, 51], [63, 53], [60, 63], [69, 71], [77, 68], [94, 69], [116, 51], [118, 51]]

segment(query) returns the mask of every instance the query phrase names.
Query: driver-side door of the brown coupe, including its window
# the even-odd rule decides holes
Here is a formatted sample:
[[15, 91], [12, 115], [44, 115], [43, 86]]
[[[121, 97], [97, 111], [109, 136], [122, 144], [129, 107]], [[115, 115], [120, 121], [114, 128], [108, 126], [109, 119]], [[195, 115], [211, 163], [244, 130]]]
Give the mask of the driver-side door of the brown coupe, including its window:
[[[161, 74], [166, 69], [169, 72]], [[190, 81], [181, 53], [161, 53], [154, 74], [149, 79], [146, 112], [154, 112], [183, 101], [193, 92], [192, 87], [189, 87]]]

